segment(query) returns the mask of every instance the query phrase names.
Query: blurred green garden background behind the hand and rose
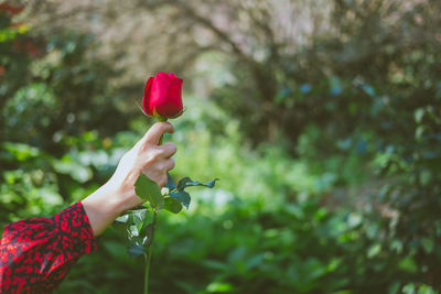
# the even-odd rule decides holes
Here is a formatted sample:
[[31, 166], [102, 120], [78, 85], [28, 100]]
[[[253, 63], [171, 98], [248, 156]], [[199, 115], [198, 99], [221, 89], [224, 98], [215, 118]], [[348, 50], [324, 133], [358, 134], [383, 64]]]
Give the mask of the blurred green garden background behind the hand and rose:
[[[152, 293], [438, 293], [441, 1], [0, 3], [0, 225], [90, 194], [184, 79]], [[57, 293], [141, 293], [108, 229]]]

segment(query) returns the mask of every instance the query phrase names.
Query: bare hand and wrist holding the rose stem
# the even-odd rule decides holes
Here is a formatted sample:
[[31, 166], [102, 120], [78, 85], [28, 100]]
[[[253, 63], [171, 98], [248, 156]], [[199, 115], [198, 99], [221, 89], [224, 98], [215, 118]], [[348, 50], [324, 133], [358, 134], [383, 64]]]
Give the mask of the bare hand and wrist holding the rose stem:
[[141, 173], [159, 186], [165, 185], [166, 172], [174, 167], [171, 156], [176, 152], [173, 143], [159, 145], [165, 132], [174, 132], [171, 123], [154, 123], [121, 157], [110, 179], [82, 202], [95, 236], [100, 235], [122, 211], [144, 202], [135, 193], [135, 183]]

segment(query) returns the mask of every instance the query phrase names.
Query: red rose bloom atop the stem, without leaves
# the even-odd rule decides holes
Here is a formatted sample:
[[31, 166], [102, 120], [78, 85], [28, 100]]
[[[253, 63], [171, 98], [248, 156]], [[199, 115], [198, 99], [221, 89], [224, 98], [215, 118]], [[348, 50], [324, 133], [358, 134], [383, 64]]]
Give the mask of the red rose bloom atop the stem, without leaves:
[[176, 118], [182, 115], [182, 79], [159, 72], [147, 80], [142, 108], [147, 116]]

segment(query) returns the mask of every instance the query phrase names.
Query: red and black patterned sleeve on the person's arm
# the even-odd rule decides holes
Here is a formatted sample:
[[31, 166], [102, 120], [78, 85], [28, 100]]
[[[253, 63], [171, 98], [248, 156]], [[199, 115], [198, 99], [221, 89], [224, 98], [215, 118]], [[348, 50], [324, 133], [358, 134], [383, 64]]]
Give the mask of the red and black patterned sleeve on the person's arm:
[[9, 224], [0, 243], [0, 293], [52, 293], [71, 266], [94, 250], [80, 202], [51, 218]]

